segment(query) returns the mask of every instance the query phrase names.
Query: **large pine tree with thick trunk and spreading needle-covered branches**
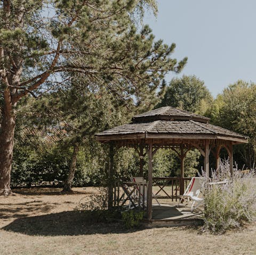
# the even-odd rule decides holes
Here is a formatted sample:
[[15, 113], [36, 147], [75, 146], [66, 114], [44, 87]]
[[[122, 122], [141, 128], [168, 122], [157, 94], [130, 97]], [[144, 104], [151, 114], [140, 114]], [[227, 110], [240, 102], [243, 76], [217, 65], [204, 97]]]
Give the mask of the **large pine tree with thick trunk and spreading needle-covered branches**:
[[[139, 33], [136, 13], [154, 0], [3, 0], [0, 2], [0, 194], [8, 195], [17, 104], [63, 86], [61, 73], [76, 72], [120, 97], [154, 91], [169, 71], [175, 44]], [[66, 76], [65, 76], [65, 79]], [[138, 97], [139, 98], [139, 97]], [[138, 101], [139, 103], [139, 101]]]

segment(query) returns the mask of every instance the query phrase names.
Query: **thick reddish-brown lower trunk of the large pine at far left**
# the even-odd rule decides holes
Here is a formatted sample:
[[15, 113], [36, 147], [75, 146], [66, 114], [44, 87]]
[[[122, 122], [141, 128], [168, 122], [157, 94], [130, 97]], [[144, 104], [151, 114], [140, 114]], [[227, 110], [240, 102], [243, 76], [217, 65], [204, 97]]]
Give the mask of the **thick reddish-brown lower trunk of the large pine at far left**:
[[14, 145], [15, 113], [12, 109], [10, 92], [4, 92], [4, 105], [2, 112], [0, 136], [0, 195], [11, 193], [11, 168]]

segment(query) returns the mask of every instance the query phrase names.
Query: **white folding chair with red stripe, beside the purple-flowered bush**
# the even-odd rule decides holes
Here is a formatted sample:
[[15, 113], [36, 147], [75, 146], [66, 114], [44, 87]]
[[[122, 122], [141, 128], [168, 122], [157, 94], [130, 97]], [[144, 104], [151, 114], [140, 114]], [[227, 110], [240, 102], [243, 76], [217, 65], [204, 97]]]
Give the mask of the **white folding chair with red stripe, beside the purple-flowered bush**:
[[203, 198], [199, 198], [202, 193], [202, 189], [204, 186], [204, 178], [203, 177], [193, 177], [188, 184], [188, 187], [183, 195], [180, 196], [180, 202], [187, 200], [187, 204], [192, 202], [191, 212], [199, 207], [204, 202]]

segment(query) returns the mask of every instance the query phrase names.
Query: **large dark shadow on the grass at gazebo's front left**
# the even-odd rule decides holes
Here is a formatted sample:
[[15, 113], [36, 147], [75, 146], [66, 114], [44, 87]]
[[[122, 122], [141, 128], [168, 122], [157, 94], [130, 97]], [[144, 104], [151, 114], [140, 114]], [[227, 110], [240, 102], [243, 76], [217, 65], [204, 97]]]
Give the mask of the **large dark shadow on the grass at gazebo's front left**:
[[138, 229], [125, 229], [120, 221], [110, 223], [97, 222], [88, 211], [64, 211], [42, 216], [18, 218], [2, 229], [26, 235], [42, 236], [91, 235], [138, 231]]

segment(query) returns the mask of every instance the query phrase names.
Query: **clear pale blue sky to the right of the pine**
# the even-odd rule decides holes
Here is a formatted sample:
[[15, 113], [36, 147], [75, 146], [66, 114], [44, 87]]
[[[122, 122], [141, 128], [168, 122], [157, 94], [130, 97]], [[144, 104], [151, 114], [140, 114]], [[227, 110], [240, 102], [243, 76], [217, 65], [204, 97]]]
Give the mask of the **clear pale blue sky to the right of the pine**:
[[204, 80], [213, 96], [238, 79], [256, 82], [255, 0], [158, 0], [158, 11], [145, 23], [176, 44], [173, 57], [188, 57], [181, 75]]

